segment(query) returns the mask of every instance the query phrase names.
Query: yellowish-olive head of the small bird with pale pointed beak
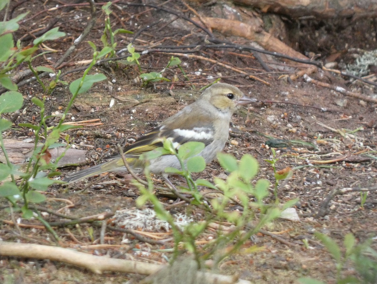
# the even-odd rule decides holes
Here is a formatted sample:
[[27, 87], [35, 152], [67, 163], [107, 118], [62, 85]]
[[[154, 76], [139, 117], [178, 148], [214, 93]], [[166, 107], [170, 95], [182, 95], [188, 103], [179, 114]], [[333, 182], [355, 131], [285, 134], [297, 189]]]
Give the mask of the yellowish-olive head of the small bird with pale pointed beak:
[[207, 100], [220, 111], [231, 113], [239, 105], [256, 102], [255, 99], [244, 96], [239, 88], [226, 83], [213, 84], [202, 93], [201, 99]]

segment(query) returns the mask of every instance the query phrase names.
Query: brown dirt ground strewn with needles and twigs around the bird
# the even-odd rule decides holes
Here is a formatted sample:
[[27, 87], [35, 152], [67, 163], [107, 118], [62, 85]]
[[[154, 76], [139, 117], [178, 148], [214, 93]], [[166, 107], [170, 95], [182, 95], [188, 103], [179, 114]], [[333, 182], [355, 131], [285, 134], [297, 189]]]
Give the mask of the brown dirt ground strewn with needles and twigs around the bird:
[[[166, 4], [161, 1], [144, 2], [181, 11], [187, 16], [194, 14], [181, 1], [170, 1]], [[59, 26], [60, 30], [67, 34], [63, 39], [47, 43], [48, 47], [55, 49], [56, 52], [38, 57], [34, 62], [36, 66], [53, 65], [85, 28], [90, 16], [87, 3], [75, 5], [70, 3], [73, 2], [12, 3], [14, 8], [10, 9], [11, 17], [21, 12], [30, 12], [26, 20], [20, 23], [19, 31], [15, 32], [16, 39], [24, 34], [34, 34], [54, 19], [58, 19], [55, 26]], [[51, 9], [55, 5], [66, 5], [66, 7]], [[225, 9], [224, 3], [210, 6], [197, 6], [195, 3], [190, 5], [199, 14], [206, 16], [215, 16], [216, 11]], [[95, 42], [99, 47], [102, 46], [100, 37], [104, 29], [104, 14], [100, 6], [97, 5], [97, 19], [92, 32], [85, 39]], [[112, 9], [113, 14], [110, 18], [113, 30], [125, 28], [135, 32], [134, 35], [117, 35], [118, 50], [126, 48], [134, 39], [133, 43], [138, 52], [157, 48], [159, 44], [171, 46], [171, 52], [181, 52], [175, 51], [173, 46], [196, 45], [203, 42], [205, 37], [205, 34], [191, 23], [182, 19], [177, 20], [175, 15], [167, 12], [148, 7], [124, 7], [121, 2], [112, 6]], [[251, 11], [246, 7], [236, 7], [236, 9]], [[296, 28], [293, 28], [295, 24]], [[295, 33], [287, 37], [287, 42], [290, 40], [291, 46], [299, 48], [298, 51], [303, 54], [308, 52], [320, 54], [318, 59], [323, 62], [328, 62], [330, 58], [330, 61], [336, 62], [338, 66], [353, 63], [356, 48], [366, 50], [377, 48], [375, 20], [363, 19], [352, 22], [351, 19], [343, 19], [342, 23], [331, 20], [326, 22], [290, 20], [287, 25], [289, 27], [287, 31]], [[298, 27], [301, 30], [297, 34]], [[241, 37], [214, 33], [221, 39], [238, 44], [249, 44], [248, 40]], [[292, 40], [297, 41], [292, 42]], [[60, 67], [62, 73], [80, 68], [81, 65], [78, 65], [80, 60], [91, 59], [91, 49], [85, 41], [77, 46]], [[27, 45], [29, 42], [30, 39], [23, 41], [23, 44]], [[308, 44], [305, 45], [305, 42]], [[87, 167], [101, 162], [104, 157], [116, 152], [118, 143], [121, 145], [132, 143], [133, 139], [140, 137], [162, 120], [193, 102], [199, 96], [200, 88], [216, 78], [222, 78], [221, 82], [238, 86], [245, 94], [259, 101], [234, 114], [230, 126], [230, 138], [224, 152], [234, 154], [238, 159], [246, 153], [253, 155], [260, 163], [257, 178], [267, 178], [273, 184], [273, 169], [265, 162], [265, 159], [272, 158], [271, 149], [266, 146], [267, 141], [270, 140], [270, 143], [273, 143], [270, 145], [276, 147], [279, 158], [277, 169], [286, 167], [294, 169], [293, 176], [289, 180], [280, 182], [278, 196], [281, 202], [299, 199], [295, 208], [300, 220], [294, 222], [278, 219], [264, 228], [292, 245], [284, 244], [268, 235], [257, 234], [245, 243], [240, 253], [225, 259], [218, 271], [226, 275], [238, 274], [242, 279], [261, 284], [295, 283], [297, 278], [302, 276], [335, 283], [335, 262], [314, 238], [313, 232], [316, 230], [326, 233], [340, 245], [349, 232], [353, 233], [359, 242], [375, 237], [377, 232], [375, 190], [368, 191], [363, 207], [360, 206], [359, 191], [349, 191], [331, 199], [326, 198], [334, 190], [375, 186], [377, 105], [308, 83], [302, 77], [292, 82], [282, 80], [279, 76], [291, 74], [294, 69], [266, 71], [250, 52], [205, 48], [193, 54], [214, 61], [190, 56], [191, 53], [188, 53], [189, 56], [178, 56], [182, 61], [182, 68], [190, 79], [189, 82], [185, 82], [178, 68], [173, 68], [166, 69], [163, 75], [168, 79], [174, 79], [174, 82], [155, 82], [142, 87], [138, 79], [139, 71], [135, 65], [126, 66], [121, 63], [117, 65], [112, 62], [96, 66], [95, 72], [105, 74], [108, 79], [95, 84], [88, 93], [80, 95], [67, 117], [67, 121], [99, 118], [103, 123], [100, 126], [85, 125], [79, 130], [67, 131], [76, 147], [88, 151], [87, 161], [79, 166]], [[169, 52], [150, 52], [142, 54], [139, 60], [143, 71], [161, 71], [171, 56]], [[225, 63], [228, 67], [218, 63]], [[236, 67], [246, 74], [236, 73], [229, 66]], [[20, 67], [20, 69], [26, 68], [27, 66]], [[82, 72], [81, 70], [68, 73], [63, 80], [72, 82], [80, 77]], [[248, 75], [254, 75], [268, 84], [251, 79]], [[341, 86], [354, 92], [361, 91], [365, 96], [376, 96], [374, 86], [362, 84], [360, 81], [351, 82], [348, 77], [322, 71], [311, 76], [332, 86]], [[192, 90], [192, 86], [195, 90]], [[41, 98], [43, 93], [36, 82], [21, 86], [20, 91], [25, 95], [23, 108], [26, 111], [20, 113], [15, 121], [16, 127], [7, 134], [7, 138], [22, 140], [33, 137], [34, 134], [29, 129], [17, 127], [17, 123], [35, 123], [38, 120], [39, 110], [32, 105], [31, 97]], [[69, 98], [67, 86], [58, 86], [54, 93], [48, 96], [46, 114], [61, 112]], [[112, 99], [115, 103], [110, 107]], [[51, 119], [48, 123], [54, 125], [56, 122], [57, 119]], [[61, 169], [61, 173], [64, 176], [75, 169], [76, 167], [65, 167]], [[213, 161], [207, 165], [204, 172], [194, 176], [213, 181], [213, 177], [224, 174], [226, 173], [221, 170], [218, 162]], [[163, 184], [159, 177], [155, 178], [156, 184]], [[78, 191], [83, 189], [84, 191]], [[135, 207], [135, 199], [138, 195], [138, 191], [132, 185], [123, 182], [123, 177], [107, 174], [68, 187], [55, 186], [48, 193], [51, 199], [42, 205], [58, 210], [73, 204], [62, 211], [83, 217], [109, 209]], [[159, 198], [164, 203], [172, 202], [171, 198], [164, 196]], [[273, 202], [273, 200], [271, 192], [268, 201]], [[0, 201], [1, 205], [7, 204], [4, 200]], [[176, 210], [185, 212], [186, 207], [180, 205]], [[14, 226], [4, 222], [11, 220], [8, 211], [0, 212], [3, 220], [0, 222], [0, 236], [3, 241], [55, 244], [51, 235], [44, 229], [31, 226], [20, 227], [21, 232], [17, 231]], [[57, 217], [46, 216], [48, 221], [57, 221]], [[37, 221], [21, 220], [21, 223], [35, 225]], [[152, 263], [166, 263], [166, 259], [169, 258], [169, 253], [158, 250], [162, 248], [161, 245], [136, 240], [131, 244], [124, 244], [122, 242], [124, 234], [118, 232], [106, 232], [105, 244], [109, 246], [99, 245], [100, 230], [100, 227], [84, 223], [68, 228], [57, 228], [57, 233], [61, 238], [60, 245], [63, 247], [75, 248], [94, 255]], [[166, 239], [169, 237], [169, 233], [164, 235]], [[304, 246], [303, 239], [308, 239], [308, 247]], [[164, 248], [169, 248], [168, 244]], [[249, 253], [247, 248], [253, 245], [261, 249]], [[376, 248], [375, 242], [373, 247]], [[141, 251], [143, 253], [140, 253]], [[110, 272], [93, 275], [87, 270], [59, 262], [6, 257], [0, 258], [0, 271], [0, 282], [7, 284], [125, 283], [135, 277], [132, 274]], [[356, 275], [351, 263], [345, 265], [342, 273]]]

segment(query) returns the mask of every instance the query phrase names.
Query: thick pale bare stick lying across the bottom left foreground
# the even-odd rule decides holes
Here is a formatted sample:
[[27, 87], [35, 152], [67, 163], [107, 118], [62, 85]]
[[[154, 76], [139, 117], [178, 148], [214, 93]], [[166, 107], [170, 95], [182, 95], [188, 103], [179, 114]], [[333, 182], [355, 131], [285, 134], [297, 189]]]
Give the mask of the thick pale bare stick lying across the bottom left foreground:
[[[76, 252], [71, 249], [53, 247], [49, 245], [20, 244], [2, 241], [0, 241], [0, 255], [62, 261], [78, 267], [84, 267], [98, 274], [101, 274], [104, 271], [115, 271], [151, 275], [152, 273], [156, 273], [158, 270], [165, 267], [165, 265], [159, 264], [90, 255], [88, 253]], [[225, 276], [208, 272], [197, 273], [199, 277], [205, 276], [208, 284], [251, 284], [250, 281], [242, 279], [238, 279], [237, 282], [235, 282], [233, 276]]]

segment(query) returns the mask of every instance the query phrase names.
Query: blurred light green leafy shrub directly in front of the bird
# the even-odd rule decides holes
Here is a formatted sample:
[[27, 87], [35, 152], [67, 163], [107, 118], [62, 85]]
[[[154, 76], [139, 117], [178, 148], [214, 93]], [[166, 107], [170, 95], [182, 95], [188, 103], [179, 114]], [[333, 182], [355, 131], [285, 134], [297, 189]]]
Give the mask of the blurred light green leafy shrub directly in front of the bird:
[[[153, 182], [149, 177], [148, 168], [146, 176], [148, 186], [144, 186], [137, 181], [134, 184], [141, 192], [141, 196], [136, 200], [136, 204], [142, 206], [146, 202], [151, 202], [156, 211], [156, 215], [161, 220], [169, 222], [172, 227], [175, 241], [175, 256], [182, 251], [189, 251], [195, 255], [198, 264], [209, 258], [216, 259], [218, 263], [231, 253], [237, 252], [242, 244], [247, 241], [251, 235], [268, 222], [279, 217], [280, 212], [291, 206], [296, 200], [287, 202], [283, 206], [277, 204], [265, 204], [265, 198], [269, 195], [268, 187], [270, 182], [266, 179], [254, 181], [258, 171], [258, 163], [251, 155], [244, 155], [240, 161], [230, 154], [219, 153], [218, 160], [224, 170], [230, 171], [228, 178], [224, 181], [218, 177], [215, 178], [215, 185], [205, 179], [194, 180], [191, 172], [200, 172], [205, 168], [203, 157], [197, 156], [204, 144], [201, 142], [187, 142], [183, 144], [178, 151], [173, 148], [172, 142], [166, 140], [164, 147], [158, 148], [144, 155], [143, 159], [154, 159], [162, 154], [175, 155], [181, 165], [180, 169], [167, 168], [167, 173], [179, 174], [187, 182], [187, 187], [179, 187], [182, 193], [192, 195], [191, 205], [201, 208], [204, 212], [204, 221], [200, 223], [190, 223], [184, 228], [178, 227], [169, 211], [165, 210], [161, 202], [154, 194]], [[205, 186], [218, 190], [222, 193], [221, 198], [207, 200], [203, 196], [199, 186]], [[250, 201], [251, 196], [254, 201]], [[229, 211], [228, 208], [234, 202], [242, 207], [239, 211]], [[259, 215], [257, 218], [257, 214]], [[203, 248], [196, 245], [196, 240], [201, 237], [211, 222], [230, 222], [234, 225], [231, 232], [219, 232], [213, 241], [209, 242]], [[250, 227], [250, 221], [254, 225]], [[245, 227], [249, 229], [245, 232]], [[182, 248], [179, 249], [179, 244]], [[225, 250], [228, 245], [230, 248]]]

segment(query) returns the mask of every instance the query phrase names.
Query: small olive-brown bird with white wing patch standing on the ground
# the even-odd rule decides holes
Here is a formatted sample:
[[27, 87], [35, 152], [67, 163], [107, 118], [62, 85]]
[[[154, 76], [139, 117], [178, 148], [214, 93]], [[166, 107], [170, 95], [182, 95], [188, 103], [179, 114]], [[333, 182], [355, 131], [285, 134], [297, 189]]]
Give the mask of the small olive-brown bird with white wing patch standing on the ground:
[[[124, 157], [127, 164], [135, 172], [143, 171], [145, 164], [139, 157], [143, 153], [162, 147], [164, 139], [172, 141], [176, 149], [185, 142], [203, 142], [205, 147], [198, 155], [204, 158], [206, 164], [209, 164], [225, 147], [233, 113], [240, 105], [252, 102], [256, 100], [244, 96], [236, 86], [214, 83], [205, 89], [195, 102], [125, 147]], [[62, 180], [72, 183], [104, 172], [127, 172], [121, 155], [110, 156], [108, 160], [68, 174]], [[167, 167], [181, 169], [181, 164], [175, 155], [165, 154], [149, 161], [150, 173], [166, 176], [164, 169]]]

